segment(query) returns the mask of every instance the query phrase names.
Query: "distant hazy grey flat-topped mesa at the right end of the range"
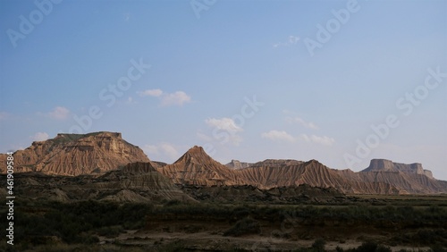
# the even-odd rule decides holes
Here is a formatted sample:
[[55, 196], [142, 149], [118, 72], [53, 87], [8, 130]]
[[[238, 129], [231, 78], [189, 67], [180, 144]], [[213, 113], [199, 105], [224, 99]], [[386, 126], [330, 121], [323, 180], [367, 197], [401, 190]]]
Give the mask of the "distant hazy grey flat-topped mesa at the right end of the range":
[[386, 159], [372, 159], [367, 169], [363, 170], [362, 172], [406, 172], [426, 175], [427, 177], [433, 179], [432, 172], [424, 170], [422, 164], [393, 163], [391, 160]]

